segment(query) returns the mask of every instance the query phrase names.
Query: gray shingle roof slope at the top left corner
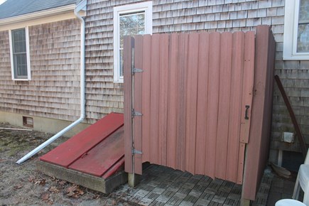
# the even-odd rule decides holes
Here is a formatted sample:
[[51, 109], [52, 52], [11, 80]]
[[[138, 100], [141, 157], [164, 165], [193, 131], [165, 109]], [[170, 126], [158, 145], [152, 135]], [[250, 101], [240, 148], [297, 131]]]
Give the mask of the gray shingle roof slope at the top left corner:
[[7, 0], [4, 4], [0, 5], [0, 19], [77, 4], [79, 2], [80, 0]]

